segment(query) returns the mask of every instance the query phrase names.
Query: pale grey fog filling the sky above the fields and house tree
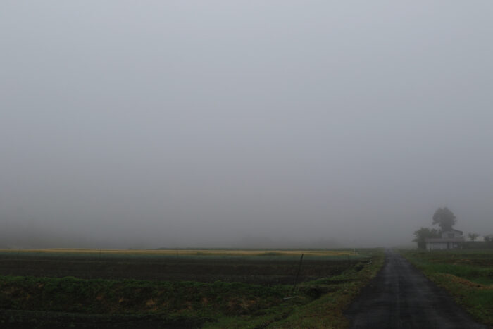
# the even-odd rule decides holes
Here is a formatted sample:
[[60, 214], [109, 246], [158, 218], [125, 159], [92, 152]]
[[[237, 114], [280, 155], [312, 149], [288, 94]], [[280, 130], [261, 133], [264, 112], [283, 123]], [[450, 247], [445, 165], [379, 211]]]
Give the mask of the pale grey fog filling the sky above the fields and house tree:
[[2, 1], [0, 247], [493, 233], [492, 1]]

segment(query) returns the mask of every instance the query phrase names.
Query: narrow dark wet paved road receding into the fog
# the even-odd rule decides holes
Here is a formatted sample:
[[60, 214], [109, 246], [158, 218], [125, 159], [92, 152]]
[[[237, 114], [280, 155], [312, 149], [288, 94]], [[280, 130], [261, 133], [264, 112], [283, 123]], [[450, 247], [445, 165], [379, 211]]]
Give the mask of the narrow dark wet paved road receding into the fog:
[[351, 328], [487, 328], [397, 252], [385, 253], [382, 271], [346, 313]]

